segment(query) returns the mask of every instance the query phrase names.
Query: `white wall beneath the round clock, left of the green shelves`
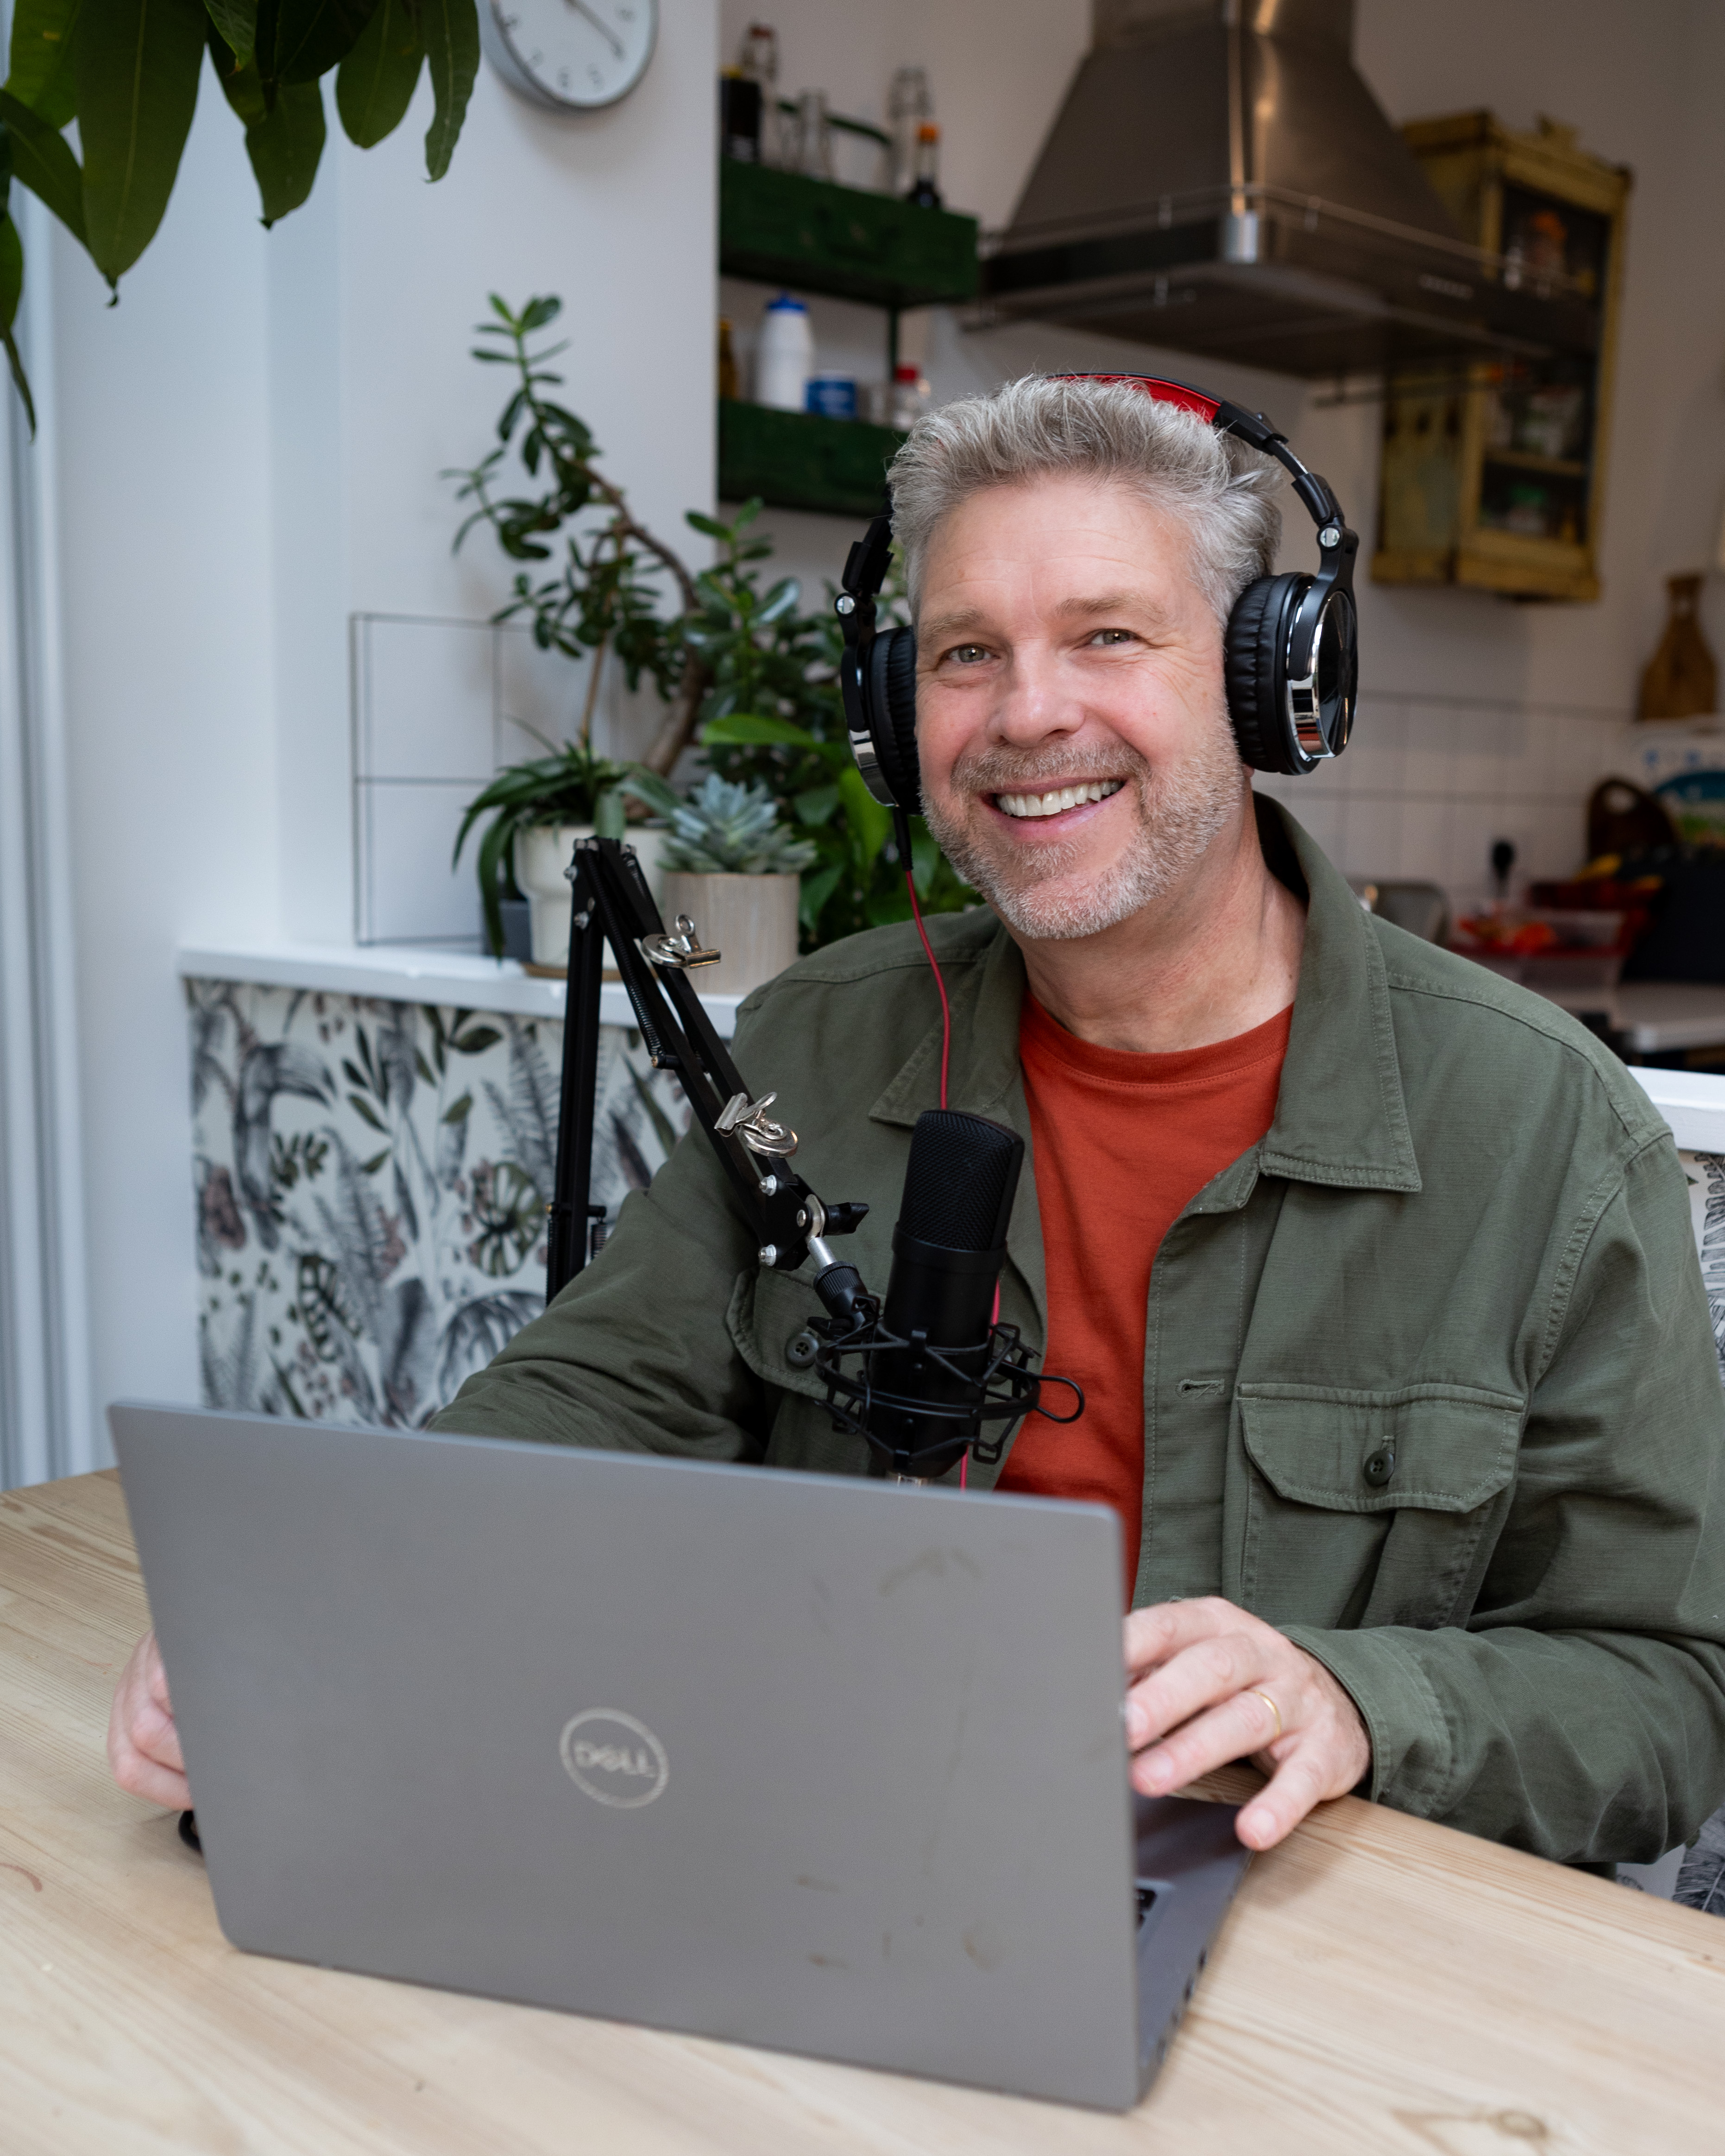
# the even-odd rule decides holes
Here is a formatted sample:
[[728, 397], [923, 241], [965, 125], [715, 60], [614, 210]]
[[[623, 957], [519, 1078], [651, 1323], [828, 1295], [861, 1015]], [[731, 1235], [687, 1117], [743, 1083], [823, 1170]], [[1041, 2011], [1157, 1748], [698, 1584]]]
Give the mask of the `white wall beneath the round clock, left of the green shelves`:
[[[196, 1399], [175, 949], [351, 925], [347, 619], [483, 619], [446, 466], [489, 446], [485, 295], [565, 298], [569, 401], [649, 520], [712, 505], [714, 0], [662, 0], [623, 106], [561, 119], [481, 69], [427, 185], [423, 91], [375, 151], [332, 116], [310, 205], [257, 224], [205, 73], [119, 308], [60, 241], [60, 580], [91, 1227], [93, 1395]], [[690, 535], [692, 537], [692, 535]], [[106, 1436], [91, 1434], [106, 1455]]]

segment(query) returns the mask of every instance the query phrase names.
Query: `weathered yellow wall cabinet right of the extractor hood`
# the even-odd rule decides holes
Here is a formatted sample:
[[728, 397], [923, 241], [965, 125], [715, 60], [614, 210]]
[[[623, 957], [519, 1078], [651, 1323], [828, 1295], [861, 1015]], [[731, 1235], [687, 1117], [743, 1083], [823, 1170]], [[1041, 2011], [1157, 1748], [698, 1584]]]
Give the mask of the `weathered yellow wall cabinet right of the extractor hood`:
[[1391, 377], [1371, 578], [1598, 599], [1632, 175], [1546, 119], [1516, 134], [1490, 112], [1455, 112], [1402, 134], [1488, 257], [1492, 319], [1522, 349], [1449, 379]]

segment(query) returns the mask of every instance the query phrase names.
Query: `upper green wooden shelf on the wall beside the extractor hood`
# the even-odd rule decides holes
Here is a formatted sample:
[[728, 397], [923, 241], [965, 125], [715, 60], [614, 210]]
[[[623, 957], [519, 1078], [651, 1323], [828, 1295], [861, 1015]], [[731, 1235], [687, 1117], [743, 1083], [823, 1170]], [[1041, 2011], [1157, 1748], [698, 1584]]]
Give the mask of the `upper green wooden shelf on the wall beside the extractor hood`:
[[977, 295], [977, 220], [720, 157], [718, 267], [891, 313], [957, 306]]

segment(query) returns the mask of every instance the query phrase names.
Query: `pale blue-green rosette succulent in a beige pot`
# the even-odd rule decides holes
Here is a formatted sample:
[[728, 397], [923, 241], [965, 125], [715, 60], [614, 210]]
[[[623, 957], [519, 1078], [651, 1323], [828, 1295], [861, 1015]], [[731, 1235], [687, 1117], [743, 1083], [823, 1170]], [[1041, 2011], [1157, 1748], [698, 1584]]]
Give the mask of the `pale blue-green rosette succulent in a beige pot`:
[[709, 772], [684, 800], [645, 770], [632, 772], [623, 789], [666, 821], [666, 921], [688, 914], [701, 940], [722, 953], [716, 966], [701, 968], [701, 990], [746, 996], [783, 972], [796, 957], [802, 871], [815, 847], [778, 821], [772, 793]]

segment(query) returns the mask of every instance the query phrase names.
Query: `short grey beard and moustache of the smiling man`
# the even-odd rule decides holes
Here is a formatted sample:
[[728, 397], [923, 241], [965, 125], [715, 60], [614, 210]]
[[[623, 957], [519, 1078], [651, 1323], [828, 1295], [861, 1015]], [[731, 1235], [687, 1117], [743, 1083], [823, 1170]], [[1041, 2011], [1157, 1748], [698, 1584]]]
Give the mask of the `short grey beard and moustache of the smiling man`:
[[1082, 839], [1050, 847], [1031, 871], [1024, 856], [996, 852], [992, 832], [972, 830], [940, 804], [923, 800], [923, 817], [940, 852], [1020, 936], [1050, 942], [1100, 936], [1167, 897], [1197, 869], [1248, 785], [1233, 729], [1220, 711], [1190, 757], [1160, 770], [1121, 746], [1104, 772], [1098, 750], [1076, 742], [1022, 752], [983, 748], [953, 765], [960, 798], [1046, 793], [1087, 778], [1126, 778], [1136, 793], [1138, 832], [1113, 867], [1076, 893], [1044, 886], [1072, 873], [1082, 858]]

